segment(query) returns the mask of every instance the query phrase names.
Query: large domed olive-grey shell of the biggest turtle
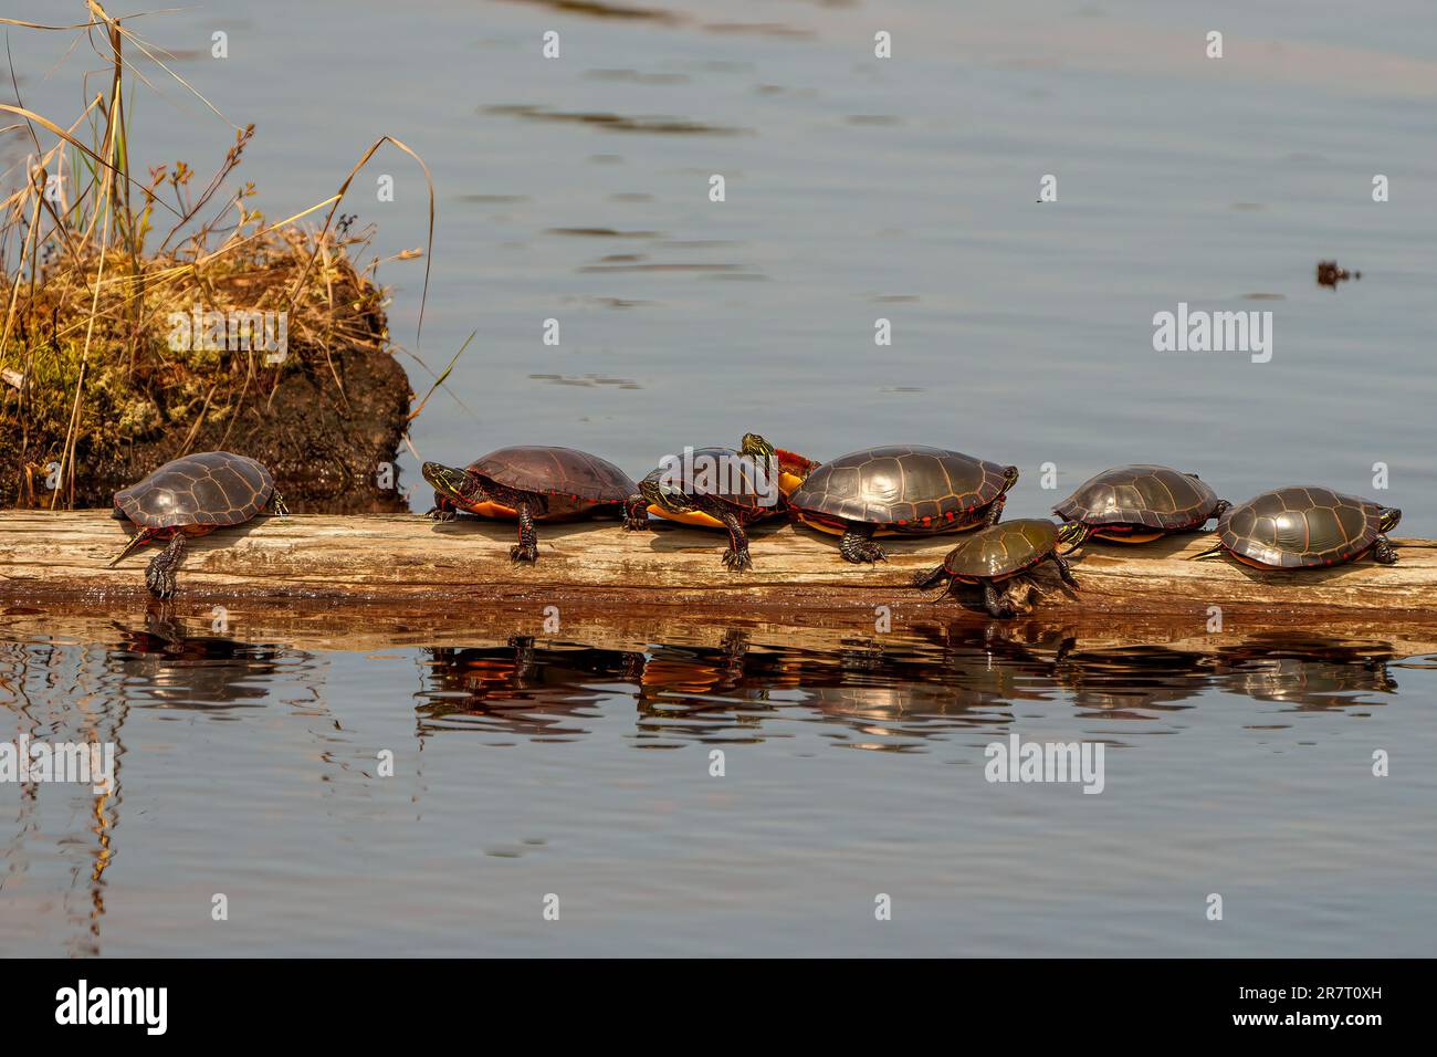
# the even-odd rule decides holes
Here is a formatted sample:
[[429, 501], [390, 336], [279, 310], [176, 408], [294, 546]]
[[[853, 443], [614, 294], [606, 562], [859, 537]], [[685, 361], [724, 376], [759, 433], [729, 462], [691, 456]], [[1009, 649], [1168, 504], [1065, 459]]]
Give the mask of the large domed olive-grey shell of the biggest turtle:
[[799, 511], [867, 525], [954, 521], [1007, 490], [1012, 466], [921, 444], [865, 447], [822, 463], [792, 495]]

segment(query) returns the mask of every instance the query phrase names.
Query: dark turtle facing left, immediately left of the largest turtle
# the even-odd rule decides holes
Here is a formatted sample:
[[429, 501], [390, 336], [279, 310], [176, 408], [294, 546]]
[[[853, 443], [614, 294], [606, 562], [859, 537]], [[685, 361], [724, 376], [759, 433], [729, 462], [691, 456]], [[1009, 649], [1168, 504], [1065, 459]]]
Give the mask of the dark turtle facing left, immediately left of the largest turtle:
[[661, 518], [727, 529], [723, 564], [741, 572], [753, 568], [744, 525], [786, 509], [780, 475], [777, 449], [757, 433], [746, 433], [737, 452], [704, 447], [687, 460], [670, 456], [638, 483], [629, 508], [647, 506]]

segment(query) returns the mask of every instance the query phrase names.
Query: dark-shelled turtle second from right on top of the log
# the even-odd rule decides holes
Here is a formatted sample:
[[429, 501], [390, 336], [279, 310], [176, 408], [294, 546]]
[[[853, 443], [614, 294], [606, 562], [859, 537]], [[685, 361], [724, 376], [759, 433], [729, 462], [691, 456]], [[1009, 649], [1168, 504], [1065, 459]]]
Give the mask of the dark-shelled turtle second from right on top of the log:
[[1089, 477], [1053, 513], [1086, 525], [1083, 539], [1145, 544], [1168, 532], [1203, 528], [1209, 518], [1221, 518], [1229, 506], [1196, 473], [1138, 465], [1115, 466]]

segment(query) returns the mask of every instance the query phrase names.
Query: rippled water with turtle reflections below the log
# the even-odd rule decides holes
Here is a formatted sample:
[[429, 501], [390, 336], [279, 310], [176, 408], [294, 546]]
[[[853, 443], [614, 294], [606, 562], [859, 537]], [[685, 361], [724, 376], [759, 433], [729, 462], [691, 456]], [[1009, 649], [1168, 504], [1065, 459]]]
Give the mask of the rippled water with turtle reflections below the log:
[[[335, 653], [138, 614], [83, 641], [10, 639], [0, 739], [95, 736], [119, 761], [108, 798], [0, 785], [7, 953], [1427, 955], [1437, 939], [1437, 654], [971, 624], [832, 649], [730, 630]], [[1102, 792], [986, 781], [984, 746], [1012, 732], [1102, 742]], [[1204, 919], [1214, 892], [1223, 922]]]

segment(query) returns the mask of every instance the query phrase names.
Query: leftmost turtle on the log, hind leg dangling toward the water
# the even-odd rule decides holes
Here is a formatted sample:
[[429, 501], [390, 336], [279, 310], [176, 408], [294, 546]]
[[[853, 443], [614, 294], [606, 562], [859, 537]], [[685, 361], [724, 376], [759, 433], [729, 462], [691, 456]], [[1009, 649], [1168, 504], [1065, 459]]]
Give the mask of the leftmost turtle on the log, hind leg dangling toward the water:
[[145, 544], [168, 539], [145, 569], [145, 587], [157, 598], [171, 598], [185, 536], [243, 525], [262, 512], [289, 513], [264, 466], [230, 452], [187, 454], [115, 493], [114, 516], [134, 522], [138, 531], [111, 567]]

